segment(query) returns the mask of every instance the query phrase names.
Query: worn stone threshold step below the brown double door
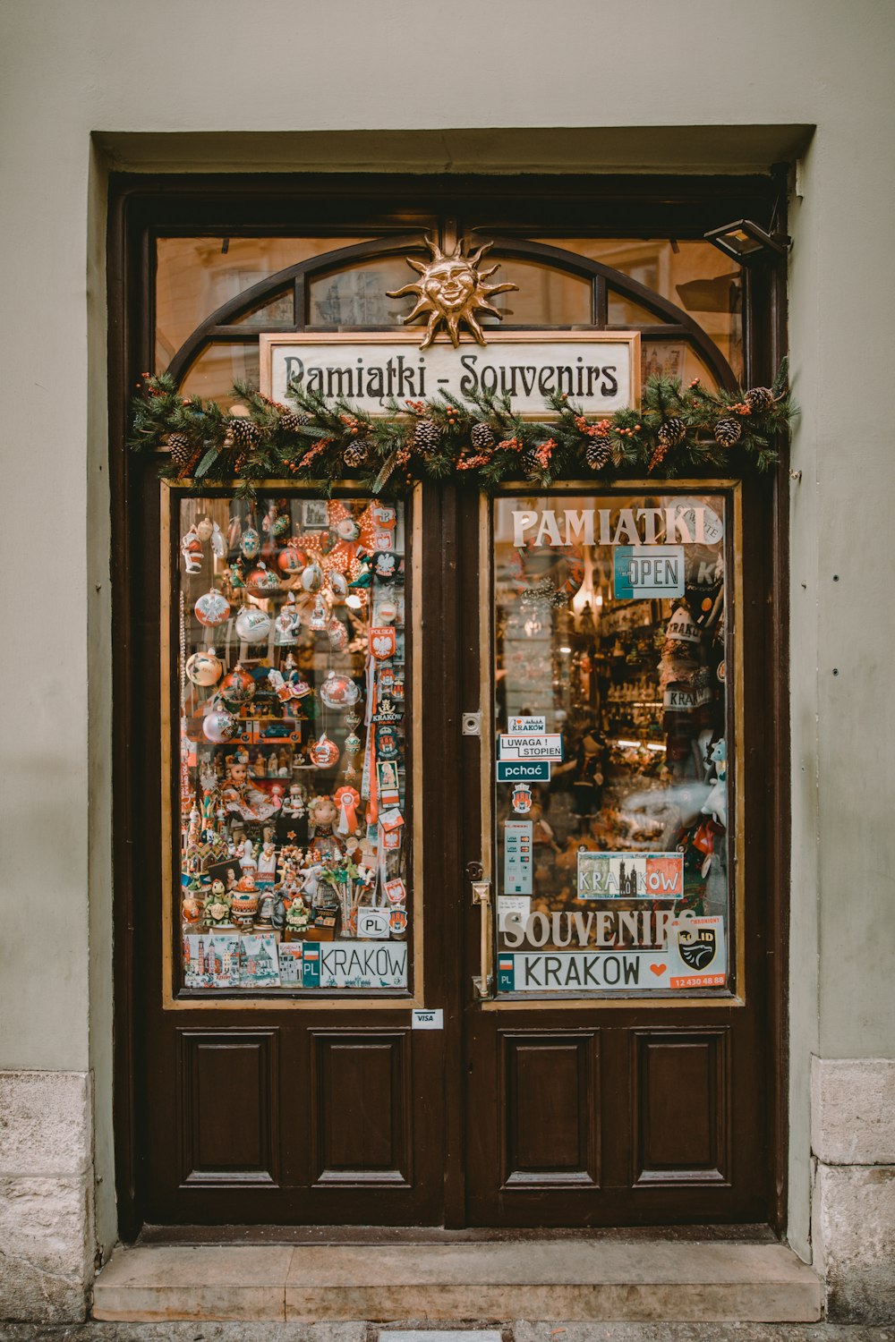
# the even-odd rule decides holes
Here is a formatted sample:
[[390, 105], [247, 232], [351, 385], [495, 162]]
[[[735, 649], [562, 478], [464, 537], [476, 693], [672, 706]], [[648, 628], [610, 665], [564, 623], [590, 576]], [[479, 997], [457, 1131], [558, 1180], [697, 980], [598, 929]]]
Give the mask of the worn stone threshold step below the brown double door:
[[137, 1245], [94, 1284], [95, 1319], [629, 1319], [810, 1323], [821, 1283], [782, 1244]]

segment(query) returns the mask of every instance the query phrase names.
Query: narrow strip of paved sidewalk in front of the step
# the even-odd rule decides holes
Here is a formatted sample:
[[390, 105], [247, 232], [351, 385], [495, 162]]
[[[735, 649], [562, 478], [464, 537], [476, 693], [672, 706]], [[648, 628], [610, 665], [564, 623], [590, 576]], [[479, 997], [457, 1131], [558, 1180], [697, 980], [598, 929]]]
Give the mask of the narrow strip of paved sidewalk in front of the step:
[[[837, 1323], [82, 1323], [0, 1322], [0, 1342], [895, 1342], [891, 1326]], [[464, 1337], [466, 1335], [466, 1337]]]

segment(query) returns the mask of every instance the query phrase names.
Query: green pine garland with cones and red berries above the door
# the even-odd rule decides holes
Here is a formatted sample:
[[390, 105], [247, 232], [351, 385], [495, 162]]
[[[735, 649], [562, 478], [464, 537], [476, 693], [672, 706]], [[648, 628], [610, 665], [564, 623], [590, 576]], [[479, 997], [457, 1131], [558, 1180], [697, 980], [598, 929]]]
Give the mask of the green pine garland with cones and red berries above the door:
[[[639, 409], [598, 420], [561, 393], [549, 399], [554, 419], [545, 423], [521, 419], [509, 397], [492, 395], [392, 400], [388, 415], [377, 419], [297, 384], [288, 396], [290, 405], [282, 405], [236, 382], [238, 404], [224, 409], [197, 396], [181, 397], [166, 373], [146, 373], [133, 401], [127, 446], [160, 451], [173, 436], [177, 462], [169, 458], [164, 476], [238, 480], [240, 497], [252, 497], [254, 480], [288, 476], [313, 482], [323, 494], [342, 479], [380, 494], [450, 476], [494, 490], [522, 479], [549, 487], [590, 476], [766, 471], [778, 460], [776, 444], [797, 413], [786, 360], [773, 386], [737, 396], [708, 391], [699, 378], [684, 389], [675, 378], [651, 377]], [[589, 454], [594, 443], [600, 450]]]

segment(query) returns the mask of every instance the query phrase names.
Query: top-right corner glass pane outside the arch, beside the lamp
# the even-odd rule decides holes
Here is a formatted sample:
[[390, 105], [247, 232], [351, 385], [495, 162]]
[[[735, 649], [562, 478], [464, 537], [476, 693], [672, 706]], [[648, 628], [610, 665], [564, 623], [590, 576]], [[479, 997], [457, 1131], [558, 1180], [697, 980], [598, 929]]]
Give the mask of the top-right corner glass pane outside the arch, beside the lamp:
[[[742, 271], [711, 243], [684, 239], [672, 243], [668, 238], [537, 240], [612, 266], [682, 307], [713, 338], [734, 374], [742, 378]], [[615, 315], [609, 319], [628, 321]], [[643, 319], [636, 318], [633, 325], [643, 325]]]

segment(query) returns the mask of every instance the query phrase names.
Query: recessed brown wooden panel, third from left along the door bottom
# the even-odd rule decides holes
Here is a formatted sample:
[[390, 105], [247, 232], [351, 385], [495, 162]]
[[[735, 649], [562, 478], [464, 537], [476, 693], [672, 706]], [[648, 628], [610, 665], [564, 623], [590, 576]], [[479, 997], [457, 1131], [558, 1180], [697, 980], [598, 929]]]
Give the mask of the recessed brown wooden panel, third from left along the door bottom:
[[503, 1186], [597, 1186], [597, 1036], [502, 1032]]

